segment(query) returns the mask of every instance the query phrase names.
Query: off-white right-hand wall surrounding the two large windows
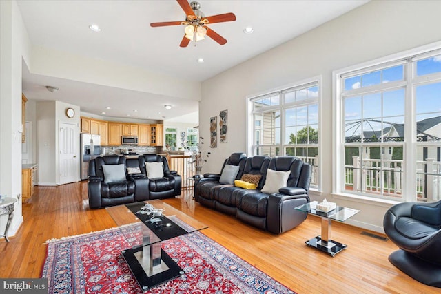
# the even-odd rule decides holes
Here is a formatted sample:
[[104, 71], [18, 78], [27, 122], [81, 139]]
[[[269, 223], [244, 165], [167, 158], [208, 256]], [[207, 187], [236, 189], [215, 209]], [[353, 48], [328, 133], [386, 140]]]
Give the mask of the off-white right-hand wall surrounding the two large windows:
[[[200, 134], [209, 138], [209, 117], [228, 109], [228, 143], [212, 150], [205, 172], [218, 172], [230, 154], [246, 149], [245, 97], [314, 76], [322, 77], [322, 193], [340, 205], [360, 209], [348, 222], [382, 231], [390, 204], [334, 198], [332, 191], [332, 71], [441, 40], [441, 1], [371, 1], [296, 39], [203, 82]], [[219, 120], [219, 118], [218, 118]]]

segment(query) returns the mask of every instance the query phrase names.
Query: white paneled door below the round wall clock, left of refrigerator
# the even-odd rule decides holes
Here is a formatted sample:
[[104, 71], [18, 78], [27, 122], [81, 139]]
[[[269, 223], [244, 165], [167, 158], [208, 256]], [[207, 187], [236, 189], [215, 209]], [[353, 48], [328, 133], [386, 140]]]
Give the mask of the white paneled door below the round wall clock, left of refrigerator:
[[59, 135], [59, 183], [63, 185], [68, 182], [76, 182], [78, 162], [76, 158], [76, 125], [60, 123]]

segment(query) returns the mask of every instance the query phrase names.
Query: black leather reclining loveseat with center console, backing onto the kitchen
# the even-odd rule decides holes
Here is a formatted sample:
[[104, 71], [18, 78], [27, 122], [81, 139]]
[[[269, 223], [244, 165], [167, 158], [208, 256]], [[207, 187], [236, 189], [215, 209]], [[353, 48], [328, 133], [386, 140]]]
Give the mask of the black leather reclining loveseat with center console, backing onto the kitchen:
[[[164, 176], [148, 178], [145, 162], [163, 162]], [[109, 182], [104, 171], [107, 167], [104, 166], [115, 165], [122, 165], [124, 176], [116, 182]], [[139, 169], [139, 172], [129, 174], [127, 167]], [[99, 156], [89, 162], [88, 179], [89, 207], [93, 209], [181, 194], [181, 176], [169, 170], [167, 158], [156, 154], [144, 154], [127, 160], [118, 155]]]

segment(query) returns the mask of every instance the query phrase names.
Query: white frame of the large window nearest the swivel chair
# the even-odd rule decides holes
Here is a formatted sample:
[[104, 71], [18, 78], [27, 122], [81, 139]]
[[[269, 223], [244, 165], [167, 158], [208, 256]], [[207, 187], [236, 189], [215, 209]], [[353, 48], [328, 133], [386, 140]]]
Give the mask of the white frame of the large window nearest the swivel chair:
[[[331, 193], [336, 196], [347, 196], [349, 198], [358, 198], [362, 200], [372, 200], [377, 202], [410, 202], [416, 201], [416, 193], [409, 193], [409, 191], [416, 191], [416, 149], [424, 143], [416, 142], [416, 109], [415, 105], [415, 92], [418, 85], [424, 83], [438, 83], [436, 80], [441, 78], [441, 72], [427, 74], [423, 76], [416, 76], [416, 62], [422, 59], [427, 59], [432, 56], [438, 56], [441, 54], [441, 42], [436, 42], [429, 45], [424, 45], [419, 48], [414, 48], [412, 50], [407, 50], [405, 52], [400, 52], [398, 54], [392, 54], [389, 56], [382, 57], [380, 59], [375, 59], [373, 61], [368, 61], [361, 63], [359, 65], [353, 65], [350, 67], [345, 67], [340, 70], [334, 70], [332, 74], [333, 78], [333, 120], [332, 127], [336, 130], [336, 134], [333, 137], [333, 178], [332, 178], [332, 191]], [[400, 63], [404, 65], [403, 81], [393, 81], [389, 83], [384, 83], [380, 85], [373, 85], [369, 87], [361, 87], [358, 89], [347, 90], [345, 95], [342, 93], [344, 91], [344, 80], [349, 76], [355, 76], [356, 74], [362, 74], [365, 72], [373, 72], [375, 70], [381, 70], [382, 68], [393, 67], [399, 65]], [[344, 98], [347, 96], [353, 96], [354, 94], [360, 94], [367, 92], [368, 90], [382, 90], [404, 87], [404, 142], [403, 147], [403, 178], [413, 179], [405, 180], [403, 185], [403, 195], [402, 198], [388, 198], [380, 196], [380, 198], [373, 195], [366, 195], [366, 193], [356, 193], [354, 191], [345, 190], [345, 174], [344, 165], [345, 160], [345, 110], [344, 110]], [[369, 91], [371, 92], [371, 91]], [[361, 143], [363, 146], [366, 144]], [[388, 143], [388, 146], [393, 144]], [[427, 145], [427, 143], [426, 143]]]

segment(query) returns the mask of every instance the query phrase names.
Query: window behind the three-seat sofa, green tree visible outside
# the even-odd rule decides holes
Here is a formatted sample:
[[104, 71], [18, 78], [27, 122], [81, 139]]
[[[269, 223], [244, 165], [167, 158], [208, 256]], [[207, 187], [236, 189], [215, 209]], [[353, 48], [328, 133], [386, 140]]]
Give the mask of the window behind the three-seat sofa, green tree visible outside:
[[313, 167], [311, 187], [318, 189], [318, 79], [250, 98], [252, 154], [298, 156]]

